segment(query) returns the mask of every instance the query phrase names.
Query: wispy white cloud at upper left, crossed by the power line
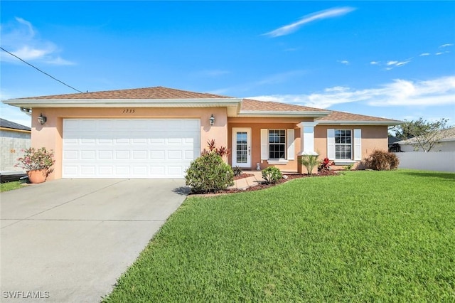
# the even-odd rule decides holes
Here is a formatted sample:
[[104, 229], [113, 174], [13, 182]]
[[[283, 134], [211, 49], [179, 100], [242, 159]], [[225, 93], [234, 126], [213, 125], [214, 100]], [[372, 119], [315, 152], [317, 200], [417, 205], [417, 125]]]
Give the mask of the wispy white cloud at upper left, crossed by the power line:
[[[52, 42], [39, 37], [33, 24], [23, 18], [16, 17], [16, 22], [2, 24], [2, 46], [26, 61], [38, 61], [53, 65], [72, 65], [74, 63], [60, 57], [60, 49]], [[0, 60], [4, 62], [19, 63], [20, 61], [8, 53], [1, 52]]]

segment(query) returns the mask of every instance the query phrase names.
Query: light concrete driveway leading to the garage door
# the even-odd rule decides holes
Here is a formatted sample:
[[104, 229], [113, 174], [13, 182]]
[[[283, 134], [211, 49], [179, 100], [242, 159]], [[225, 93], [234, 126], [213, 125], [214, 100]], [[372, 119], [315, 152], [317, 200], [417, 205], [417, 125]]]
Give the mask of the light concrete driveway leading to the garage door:
[[0, 301], [99, 302], [181, 205], [184, 184], [62, 179], [1, 193]]

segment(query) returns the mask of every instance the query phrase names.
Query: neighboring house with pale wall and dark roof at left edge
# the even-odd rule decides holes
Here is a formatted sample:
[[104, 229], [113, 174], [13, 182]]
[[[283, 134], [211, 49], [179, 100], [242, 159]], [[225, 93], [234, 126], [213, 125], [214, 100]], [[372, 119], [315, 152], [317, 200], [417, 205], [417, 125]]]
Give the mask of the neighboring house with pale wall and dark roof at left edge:
[[14, 167], [22, 149], [31, 144], [31, 128], [0, 118], [0, 171], [21, 171]]

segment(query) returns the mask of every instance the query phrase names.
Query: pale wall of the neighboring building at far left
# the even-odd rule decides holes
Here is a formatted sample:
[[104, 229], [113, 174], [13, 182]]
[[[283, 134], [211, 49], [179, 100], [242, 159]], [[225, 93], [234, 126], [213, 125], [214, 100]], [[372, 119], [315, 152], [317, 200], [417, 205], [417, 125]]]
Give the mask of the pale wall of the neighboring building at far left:
[[23, 171], [16, 159], [23, 155], [22, 149], [28, 149], [31, 144], [30, 132], [0, 130], [0, 171]]

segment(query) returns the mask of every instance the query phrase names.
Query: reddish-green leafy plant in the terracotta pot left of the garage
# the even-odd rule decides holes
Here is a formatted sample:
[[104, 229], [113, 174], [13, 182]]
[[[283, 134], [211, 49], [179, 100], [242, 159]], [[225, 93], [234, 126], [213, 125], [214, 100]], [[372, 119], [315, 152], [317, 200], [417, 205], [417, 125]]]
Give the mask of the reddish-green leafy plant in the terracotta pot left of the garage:
[[18, 158], [17, 161], [19, 163], [15, 165], [16, 167], [21, 167], [26, 171], [40, 171], [41, 169], [45, 169], [46, 176], [48, 176], [53, 172], [50, 166], [53, 166], [55, 163], [54, 152], [52, 149], [45, 149], [45, 147], [41, 147], [41, 149], [31, 147], [24, 149], [23, 156]]

